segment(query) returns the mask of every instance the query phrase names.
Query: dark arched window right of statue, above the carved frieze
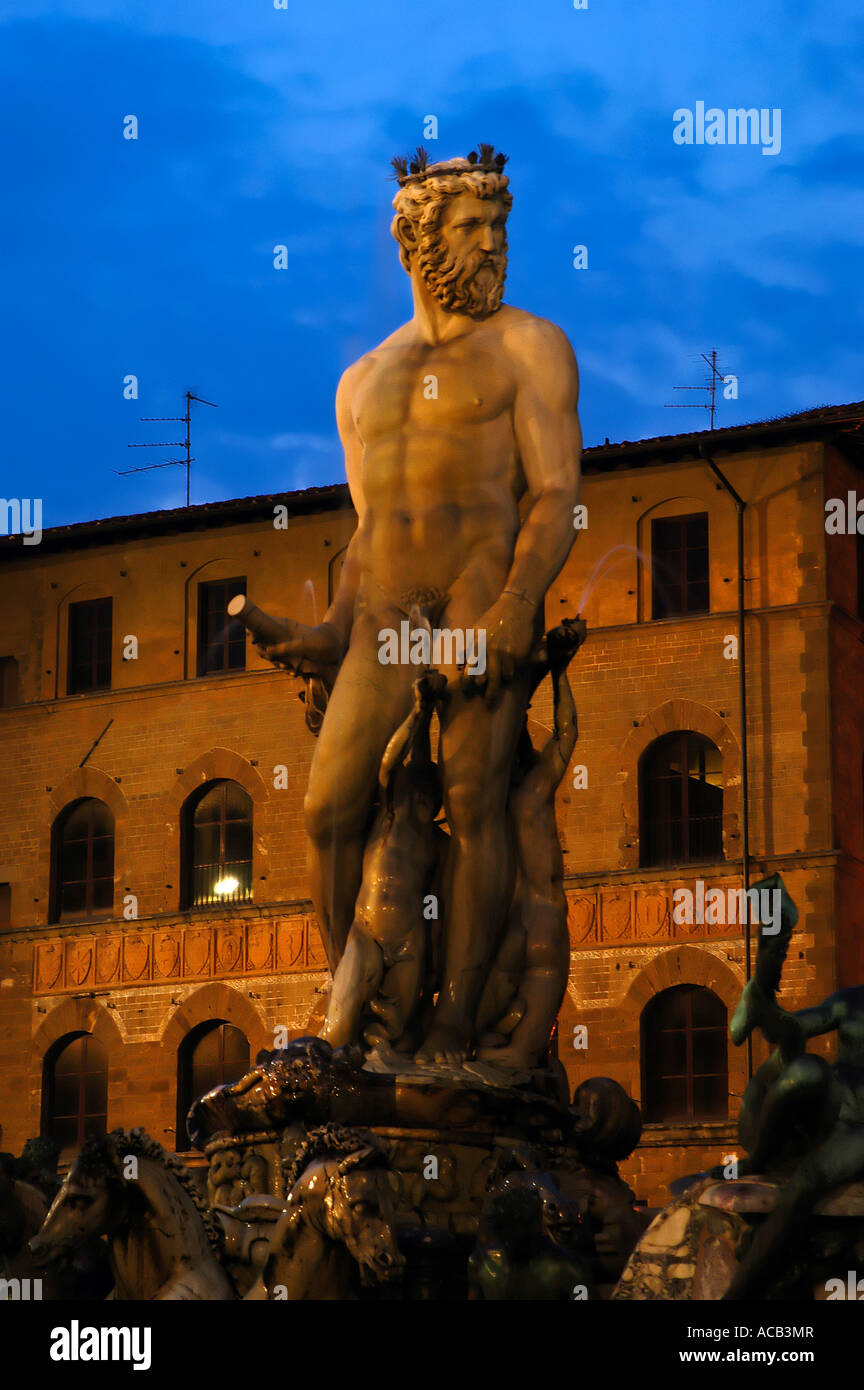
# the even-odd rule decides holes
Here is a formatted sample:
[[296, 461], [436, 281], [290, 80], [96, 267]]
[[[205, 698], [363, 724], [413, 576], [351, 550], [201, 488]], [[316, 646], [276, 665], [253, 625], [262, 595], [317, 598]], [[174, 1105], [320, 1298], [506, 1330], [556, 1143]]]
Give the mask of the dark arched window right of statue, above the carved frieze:
[[646, 748], [639, 852], [643, 866], [722, 859], [722, 758], [710, 738], [682, 730]]

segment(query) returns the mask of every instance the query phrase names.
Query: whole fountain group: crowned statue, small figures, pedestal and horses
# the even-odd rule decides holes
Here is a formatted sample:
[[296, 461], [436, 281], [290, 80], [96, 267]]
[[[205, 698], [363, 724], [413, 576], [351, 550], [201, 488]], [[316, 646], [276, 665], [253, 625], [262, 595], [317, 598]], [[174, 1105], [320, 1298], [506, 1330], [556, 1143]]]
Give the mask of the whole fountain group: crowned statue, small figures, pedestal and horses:
[[88, 1145], [36, 1244], [107, 1233], [115, 1297], [599, 1298], [643, 1227], [617, 1170], [638, 1108], [608, 1077], [571, 1101], [551, 1044], [586, 628], [546, 631], [545, 599], [575, 535], [576, 363], [503, 302], [504, 156], [393, 163], [414, 314], [336, 393], [357, 510], [339, 588], [315, 627], [228, 607], [306, 684], [326, 1017], [193, 1104], [207, 1212], [150, 1148], [132, 1207], [129, 1138]]

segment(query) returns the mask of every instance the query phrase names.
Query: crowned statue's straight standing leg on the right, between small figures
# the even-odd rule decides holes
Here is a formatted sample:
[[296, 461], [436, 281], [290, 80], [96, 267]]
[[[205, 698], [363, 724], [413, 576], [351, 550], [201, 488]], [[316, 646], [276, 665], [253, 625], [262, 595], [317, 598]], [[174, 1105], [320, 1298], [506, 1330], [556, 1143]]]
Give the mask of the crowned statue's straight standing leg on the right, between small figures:
[[[447, 621], [454, 623], [450, 616]], [[474, 1044], [479, 995], [513, 891], [506, 806], [526, 705], [522, 674], [503, 687], [493, 709], [457, 687], [442, 714], [439, 758], [450, 826], [445, 977], [418, 1062], [458, 1066]]]

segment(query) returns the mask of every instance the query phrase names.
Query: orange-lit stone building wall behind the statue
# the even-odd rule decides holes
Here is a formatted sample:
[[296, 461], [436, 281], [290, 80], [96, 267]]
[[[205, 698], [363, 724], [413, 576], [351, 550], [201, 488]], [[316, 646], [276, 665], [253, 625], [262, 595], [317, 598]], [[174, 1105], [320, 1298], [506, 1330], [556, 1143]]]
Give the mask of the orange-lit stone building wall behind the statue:
[[[799, 905], [783, 1002], [801, 1006], [864, 979], [863, 630], [854, 538], [826, 555], [822, 507], [826, 488], [857, 474], [820, 439], [717, 448], [747, 500], [751, 878], [779, 870]], [[281, 500], [292, 510], [288, 530], [272, 524]], [[739, 926], [679, 926], [671, 912], [676, 888], [740, 884], [738, 663], [725, 655], [738, 632], [735, 507], [704, 460], [671, 457], [660, 445], [633, 461], [590, 450], [582, 502], [588, 528], [547, 599], [547, 626], [579, 607], [589, 624], [571, 666], [579, 741], [558, 794], [571, 976], [557, 1045], [572, 1086], [607, 1074], [642, 1099], [647, 1001], [685, 983], [713, 990], [731, 1011], [745, 980]], [[650, 521], [703, 510], [711, 613], [651, 621]], [[8, 617], [0, 657], [17, 660], [19, 692], [0, 709], [0, 885], [10, 884], [0, 926], [0, 1145], [15, 1151], [39, 1130], [43, 1058], [69, 1033], [93, 1031], [106, 1044], [108, 1123], [140, 1123], [174, 1144], [176, 1052], [192, 1027], [235, 1022], [254, 1056], [272, 1047], [276, 1027], [314, 1031], [324, 1011], [303, 834], [314, 741], [300, 682], [251, 648], [246, 671], [197, 677], [196, 587], [246, 575], [263, 607], [319, 619], [353, 530], [344, 493], [192, 509], [183, 530], [176, 517], [138, 520], [119, 538], [103, 523], [63, 543], [46, 532], [42, 548], [0, 556]], [[68, 603], [108, 594], [113, 688], [67, 698]], [[124, 662], [129, 634], [139, 655]], [[535, 742], [549, 737], [546, 688], [529, 727]], [[676, 728], [707, 735], [722, 753], [725, 859], [645, 869], [639, 758]], [[576, 767], [585, 787], [574, 785]], [[183, 912], [181, 808], [217, 777], [253, 799], [254, 899]], [[114, 916], [50, 923], [50, 828], [82, 795], [114, 810]], [[138, 916], [124, 919], [131, 898]], [[582, 1026], [586, 1045], [575, 1047]], [[754, 1055], [758, 1063], [758, 1047]], [[735, 1151], [745, 1084], [745, 1051], [729, 1045], [726, 1120], [646, 1127], [624, 1166], [639, 1200], [661, 1202], [668, 1180]]]

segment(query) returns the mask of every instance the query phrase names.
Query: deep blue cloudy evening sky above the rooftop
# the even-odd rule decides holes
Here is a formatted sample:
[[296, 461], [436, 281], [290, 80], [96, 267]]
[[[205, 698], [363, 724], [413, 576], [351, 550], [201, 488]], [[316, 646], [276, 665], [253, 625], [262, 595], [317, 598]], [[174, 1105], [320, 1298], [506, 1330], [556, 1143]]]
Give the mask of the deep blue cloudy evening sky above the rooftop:
[[[43, 525], [344, 477], [342, 370], [410, 316], [389, 158], [510, 154], [507, 299], [560, 322], [586, 443], [864, 396], [860, 0], [4, 0], [4, 496]], [[672, 113], [782, 111], [782, 147]], [[122, 136], [124, 117], [139, 139]], [[424, 118], [438, 117], [438, 142]], [[274, 246], [288, 268], [274, 268]], [[572, 267], [588, 246], [589, 268]], [[126, 374], [139, 399], [124, 400]], [[163, 432], [167, 431], [167, 432]]]

